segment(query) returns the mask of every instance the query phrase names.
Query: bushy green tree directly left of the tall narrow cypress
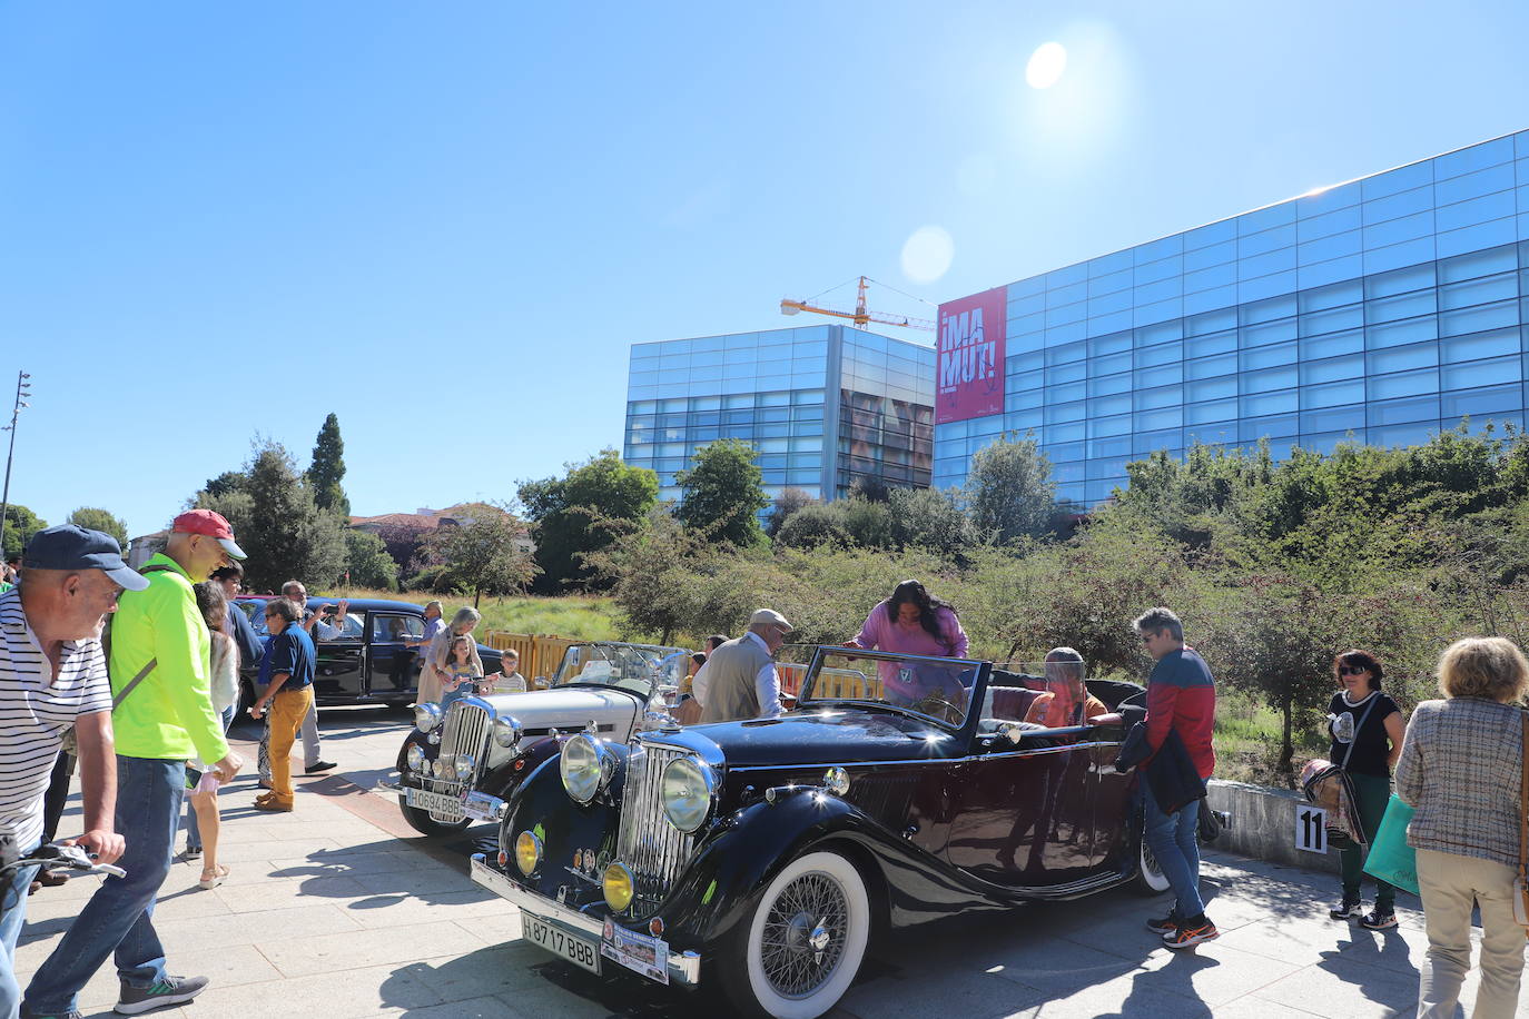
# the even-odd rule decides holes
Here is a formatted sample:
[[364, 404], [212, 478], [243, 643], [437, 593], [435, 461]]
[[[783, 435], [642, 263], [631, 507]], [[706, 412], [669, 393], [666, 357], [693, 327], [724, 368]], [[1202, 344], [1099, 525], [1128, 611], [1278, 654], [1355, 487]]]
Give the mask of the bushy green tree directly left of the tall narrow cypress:
[[275, 591], [291, 579], [313, 587], [338, 581], [346, 564], [339, 521], [318, 509], [286, 448], [269, 440], [257, 445], [245, 474], [243, 492], [225, 497], [203, 492], [197, 501], [222, 507], [219, 512], [234, 526], [239, 544], [249, 553], [248, 587]]

